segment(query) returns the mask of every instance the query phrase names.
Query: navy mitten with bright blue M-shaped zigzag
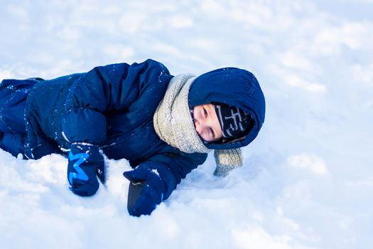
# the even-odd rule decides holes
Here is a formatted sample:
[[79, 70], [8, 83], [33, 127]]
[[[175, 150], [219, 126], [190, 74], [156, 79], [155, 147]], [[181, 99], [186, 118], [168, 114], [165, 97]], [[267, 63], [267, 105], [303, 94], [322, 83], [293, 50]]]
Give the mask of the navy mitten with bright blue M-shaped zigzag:
[[94, 145], [72, 144], [67, 166], [70, 189], [78, 196], [92, 196], [104, 184], [104, 157]]

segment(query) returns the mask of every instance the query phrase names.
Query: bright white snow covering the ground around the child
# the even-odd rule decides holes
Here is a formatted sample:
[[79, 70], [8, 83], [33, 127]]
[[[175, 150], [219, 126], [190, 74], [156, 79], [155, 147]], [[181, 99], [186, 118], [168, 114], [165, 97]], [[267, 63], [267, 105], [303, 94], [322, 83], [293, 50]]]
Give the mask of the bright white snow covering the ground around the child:
[[0, 79], [154, 58], [177, 75], [246, 68], [266, 121], [225, 178], [187, 176], [151, 216], [126, 211], [126, 160], [92, 198], [67, 161], [0, 151], [1, 248], [372, 248], [373, 1], [4, 1]]

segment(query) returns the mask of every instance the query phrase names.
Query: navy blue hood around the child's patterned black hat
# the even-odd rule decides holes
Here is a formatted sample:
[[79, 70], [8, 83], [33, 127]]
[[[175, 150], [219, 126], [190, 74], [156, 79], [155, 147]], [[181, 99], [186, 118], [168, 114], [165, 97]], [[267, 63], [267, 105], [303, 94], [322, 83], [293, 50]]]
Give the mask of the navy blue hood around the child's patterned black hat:
[[266, 102], [258, 80], [247, 70], [220, 68], [195, 79], [188, 95], [189, 106], [211, 102], [233, 105], [252, 115], [254, 127], [244, 139], [226, 144], [209, 143], [209, 149], [235, 149], [251, 143], [264, 123]]

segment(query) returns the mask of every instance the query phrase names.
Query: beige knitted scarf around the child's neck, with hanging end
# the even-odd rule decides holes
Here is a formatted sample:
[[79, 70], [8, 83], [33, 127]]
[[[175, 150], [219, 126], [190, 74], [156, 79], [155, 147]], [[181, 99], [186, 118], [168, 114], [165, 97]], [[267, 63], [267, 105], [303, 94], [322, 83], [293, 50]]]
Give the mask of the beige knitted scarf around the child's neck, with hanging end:
[[[211, 149], [205, 147], [195, 131], [193, 119], [188, 105], [190, 85], [195, 75], [176, 75], [168, 83], [163, 100], [154, 114], [154, 129], [161, 139], [185, 153], [208, 153]], [[215, 149], [217, 167], [215, 176], [225, 176], [237, 166], [242, 166], [241, 149]]]

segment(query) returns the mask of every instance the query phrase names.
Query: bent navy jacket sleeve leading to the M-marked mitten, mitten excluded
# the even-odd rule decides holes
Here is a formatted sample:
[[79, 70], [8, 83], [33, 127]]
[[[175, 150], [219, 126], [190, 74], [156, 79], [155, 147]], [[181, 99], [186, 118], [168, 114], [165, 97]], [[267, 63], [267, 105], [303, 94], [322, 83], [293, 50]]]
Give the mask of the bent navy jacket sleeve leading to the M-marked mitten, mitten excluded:
[[106, 112], [126, 111], [132, 102], [172, 76], [155, 60], [93, 68], [72, 85], [65, 102], [63, 134], [70, 142], [99, 144], [107, 139]]

